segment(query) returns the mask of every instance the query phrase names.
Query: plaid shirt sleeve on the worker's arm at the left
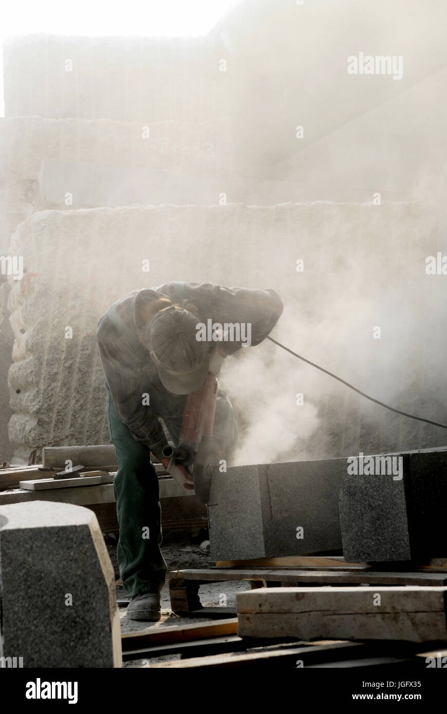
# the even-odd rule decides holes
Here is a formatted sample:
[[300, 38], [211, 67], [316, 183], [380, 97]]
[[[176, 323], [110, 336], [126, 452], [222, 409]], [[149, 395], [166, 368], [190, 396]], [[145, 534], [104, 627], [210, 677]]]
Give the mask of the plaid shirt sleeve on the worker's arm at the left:
[[99, 333], [97, 342], [116, 413], [129, 427], [134, 439], [161, 458], [161, 451], [168, 442], [158, 416], [151, 410], [150, 404], [143, 403], [144, 388], [139, 372], [110, 339], [101, 338]]

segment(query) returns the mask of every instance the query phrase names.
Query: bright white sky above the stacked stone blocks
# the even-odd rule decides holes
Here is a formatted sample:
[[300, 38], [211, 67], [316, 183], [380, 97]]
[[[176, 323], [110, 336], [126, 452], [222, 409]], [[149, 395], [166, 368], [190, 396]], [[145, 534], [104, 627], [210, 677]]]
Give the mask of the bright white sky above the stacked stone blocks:
[[[33, 32], [62, 35], [206, 35], [239, 0], [9, 0], [1, 17], [3, 37]], [[1, 40], [3, 46], [3, 41]], [[3, 107], [3, 47], [0, 116]]]

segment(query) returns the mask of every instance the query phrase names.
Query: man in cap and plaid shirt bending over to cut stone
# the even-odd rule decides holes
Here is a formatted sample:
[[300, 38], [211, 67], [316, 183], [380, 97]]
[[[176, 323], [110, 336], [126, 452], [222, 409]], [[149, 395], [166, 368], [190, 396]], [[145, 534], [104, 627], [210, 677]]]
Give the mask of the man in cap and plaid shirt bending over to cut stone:
[[[159, 420], [178, 446], [186, 395], [203, 386], [209, 373], [217, 375], [224, 358], [261, 343], [282, 311], [273, 290], [171, 282], [130, 293], [99, 320], [107, 423], [119, 466], [117, 558], [133, 620], [160, 618], [166, 580], [159, 481], [150, 460], [150, 452], [161, 459], [168, 444]], [[220, 388], [213, 433], [230, 464], [240, 443], [233, 408]]]

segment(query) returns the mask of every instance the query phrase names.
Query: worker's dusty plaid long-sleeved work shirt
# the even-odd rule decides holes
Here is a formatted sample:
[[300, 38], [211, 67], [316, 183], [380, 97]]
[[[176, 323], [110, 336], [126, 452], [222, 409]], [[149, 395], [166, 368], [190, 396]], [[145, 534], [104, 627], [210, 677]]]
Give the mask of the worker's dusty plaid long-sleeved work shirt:
[[[112, 320], [109, 312], [99, 320], [96, 334], [99, 355], [106, 377], [106, 387], [121, 421], [136, 441], [144, 443], [158, 458], [166, 446], [166, 436], [159, 417], [167, 416], [163, 404], [183, 413], [185, 396], [167, 391], [148, 349], [140, 341], [144, 328], [139, 307], [142, 301], [167, 297], [173, 303], [188, 299], [196, 308], [198, 322], [251, 323], [251, 345], [258, 345], [276, 325], [283, 311], [281, 298], [273, 290], [224, 288], [214, 283], [171, 282], [155, 288], [143, 288], [129, 293], [114, 303], [124, 328]], [[241, 342], [219, 342], [227, 354], [241, 348]], [[158, 406], [144, 405], [144, 393], [155, 393]], [[156, 400], [157, 401], [157, 400]]]

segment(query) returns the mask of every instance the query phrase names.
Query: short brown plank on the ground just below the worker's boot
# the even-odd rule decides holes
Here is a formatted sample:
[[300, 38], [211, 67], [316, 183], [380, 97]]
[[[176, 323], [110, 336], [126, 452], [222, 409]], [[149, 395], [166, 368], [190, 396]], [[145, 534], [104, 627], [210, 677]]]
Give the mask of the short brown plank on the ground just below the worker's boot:
[[123, 652], [136, 650], [155, 645], [167, 645], [176, 642], [189, 642], [191, 640], [204, 640], [221, 635], [236, 635], [238, 620], [228, 618], [219, 622], [209, 622], [203, 625], [174, 625], [173, 627], [158, 627], [130, 632], [121, 635]]

